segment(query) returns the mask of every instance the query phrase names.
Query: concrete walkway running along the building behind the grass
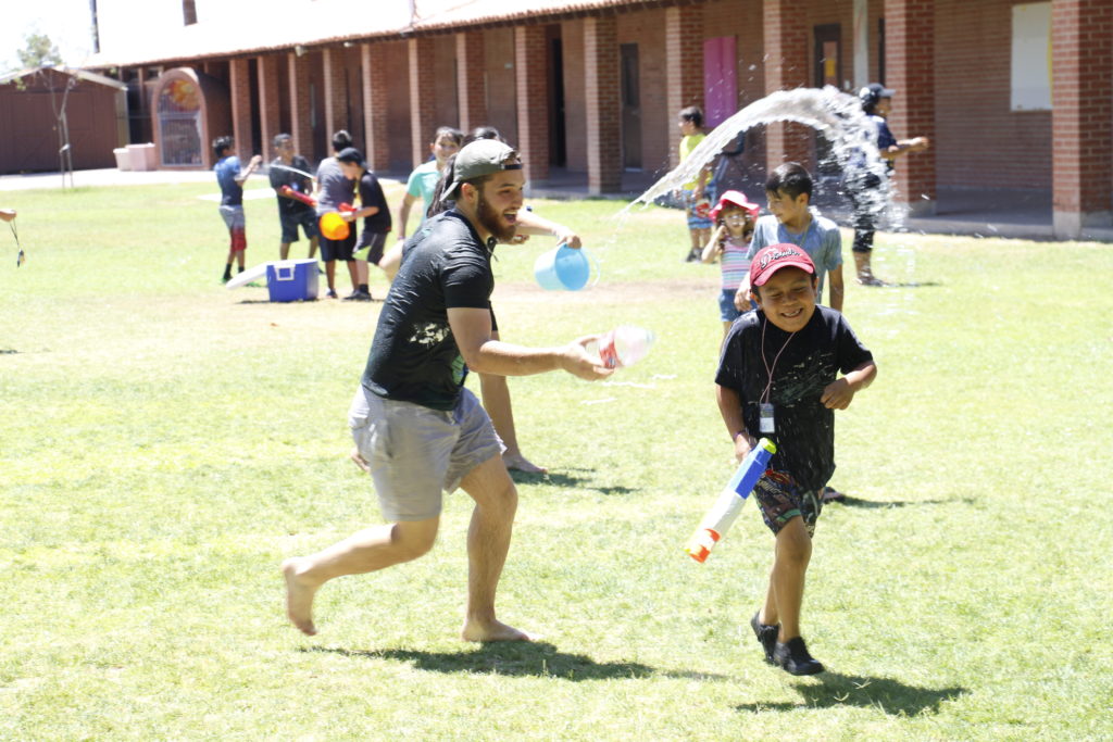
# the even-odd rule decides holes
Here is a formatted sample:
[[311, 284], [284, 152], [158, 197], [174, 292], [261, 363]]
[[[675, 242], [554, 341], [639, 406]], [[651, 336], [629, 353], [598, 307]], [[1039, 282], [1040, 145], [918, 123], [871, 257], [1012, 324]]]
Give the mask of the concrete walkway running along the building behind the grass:
[[[252, 181], [266, 176], [252, 176]], [[382, 174], [384, 182], [405, 182], [405, 174]], [[629, 200], [640, 196], [656, 179], [653, 172], [623, 174], [622, 190], [608, 194], [608, 199]], [[148, 170], [121, 171], [115, 168], [78, 170], [73, 186], [145, 186], [151, 184], [216, 182], [210, 170]], [[69, 186], [69, 178], [66, 180]], [[0, 176], [0, 192], [33, 188], [62, 188], [62, 177], [57, 172]], [[839, 224], [849, 224], [849, 210], [835, 187], [819, 184], [816, 206]], [[754, 184], [746, 192], [758, 204], [764, 204], [761, 184]], [[550, 179], [530, 186], [532, 198], [578, 199], [589, 198], [588, 176], [553, 168]], [[904, 229], [929, 235], [969, 235], [976, 237], [1009, 237], [1016, 239], [1054, 239], [1052, 229], [1051, 192], [1034, 189], [957, 189], [942, 188], [937, 194], [936, 212], [929, 217], [905, 220]], [[1113, 227], [1087, 227], [1083, 239], [1113, 243]]]

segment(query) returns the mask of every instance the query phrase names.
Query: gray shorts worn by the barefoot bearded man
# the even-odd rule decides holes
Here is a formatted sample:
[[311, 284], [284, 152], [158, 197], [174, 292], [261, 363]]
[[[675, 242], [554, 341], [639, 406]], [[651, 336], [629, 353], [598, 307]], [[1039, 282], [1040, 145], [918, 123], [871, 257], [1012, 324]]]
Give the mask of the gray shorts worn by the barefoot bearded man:
[[442, 491], [452, 492], [473, 468], [502, 455], [491, 418], [470, 390], [452, 412], [383, 399], [356, 389], [348, 426], [371, 466], [378, 506], [390, 522], [441, 514]]

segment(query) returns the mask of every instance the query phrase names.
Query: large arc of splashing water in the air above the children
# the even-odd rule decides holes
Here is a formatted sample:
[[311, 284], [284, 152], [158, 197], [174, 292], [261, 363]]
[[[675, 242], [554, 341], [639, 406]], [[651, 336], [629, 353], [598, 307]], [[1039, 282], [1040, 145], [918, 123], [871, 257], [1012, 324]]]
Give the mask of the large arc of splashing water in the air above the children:
[[669, 174], [636, 198], [637, 202], [652, 204], [654, 199], [674, 191], [695, 180], [701, 169], [710, 164], [735, 137], [755, 126], [775, 121], [795, 121], [816, 129], [830, 142], [835, 158], [847, 177], [845, 187], [865, 192], [861, 176], [873, 174], [879, 187], [869, 190], [869, 208], [878, 216], [893, 202], [893, 186], [886, 177], [886, 165], [877, 151], [877, 127], [861, 110], [858, 98], [840, 92], [831, 86], [825, 88], [797, 88], [778, 90], [754, 101], [717, 126], [688, 157]]

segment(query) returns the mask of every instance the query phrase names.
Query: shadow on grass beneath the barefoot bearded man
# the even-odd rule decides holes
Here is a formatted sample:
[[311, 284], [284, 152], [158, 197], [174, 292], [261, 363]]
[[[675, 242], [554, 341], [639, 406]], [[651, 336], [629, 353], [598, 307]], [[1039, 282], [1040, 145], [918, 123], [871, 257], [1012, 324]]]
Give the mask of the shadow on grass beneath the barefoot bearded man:
[[492, 642], [460, 652], [417, 650], [346, 650], [337, 646], [309, 646], [301, 652], [331, 652], [345, 657], [371, 657], [412, 662], [417, 670], [442, 673], [481, 673], [515, 677], [560, 677], [579, 682], [612, 677], [681, 677], [688, 680], [728, 680], [715, 673], [661, 671], [640, 662], [595, 662], [583, 654], [560, 652], [548, 642]]

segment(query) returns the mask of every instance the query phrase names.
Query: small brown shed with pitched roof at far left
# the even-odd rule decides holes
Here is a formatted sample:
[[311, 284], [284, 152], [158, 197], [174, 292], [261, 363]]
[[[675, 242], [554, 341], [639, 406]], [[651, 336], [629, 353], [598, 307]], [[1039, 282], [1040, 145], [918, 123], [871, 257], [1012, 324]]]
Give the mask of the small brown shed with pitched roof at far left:
[[0, 76], [0, 172], [60, 169], [63, 100], [73, 169], [116, 166], [112, 150], [128, 144], [127, 86], [86, 70], [41, 67]]

